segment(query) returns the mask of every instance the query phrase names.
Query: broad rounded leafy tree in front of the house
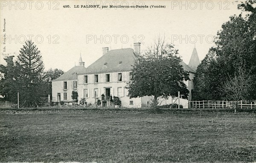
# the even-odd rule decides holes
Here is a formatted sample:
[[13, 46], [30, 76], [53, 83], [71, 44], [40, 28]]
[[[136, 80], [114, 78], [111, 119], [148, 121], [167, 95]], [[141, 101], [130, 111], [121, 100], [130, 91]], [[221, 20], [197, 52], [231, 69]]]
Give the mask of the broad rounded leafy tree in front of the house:
[[154, 107], [157, 98], [168, 96], [188, 98], [189, 90], [184, 80], [189, 80], [189, 73], [180, 65], [181, 59], [173, 45], [158, 38], [133, 66], [134, 80], [129, 82], [128, 96], [131, 98], [154, 96]]

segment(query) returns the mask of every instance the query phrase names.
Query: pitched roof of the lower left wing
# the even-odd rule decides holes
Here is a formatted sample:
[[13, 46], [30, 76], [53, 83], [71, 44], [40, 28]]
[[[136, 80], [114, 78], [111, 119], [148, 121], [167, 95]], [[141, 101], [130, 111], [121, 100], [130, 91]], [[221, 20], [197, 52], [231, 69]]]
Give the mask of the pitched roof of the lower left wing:
[[63, 80], [75, 80], [77, 79], [77, 74], [76, 73], [83, 73], [86, 72], [86, 68], [84, 66], [75, 66], [62, 74], [60, 77], [57, 79], [54, 79], [52, 81], [63, 81]]

